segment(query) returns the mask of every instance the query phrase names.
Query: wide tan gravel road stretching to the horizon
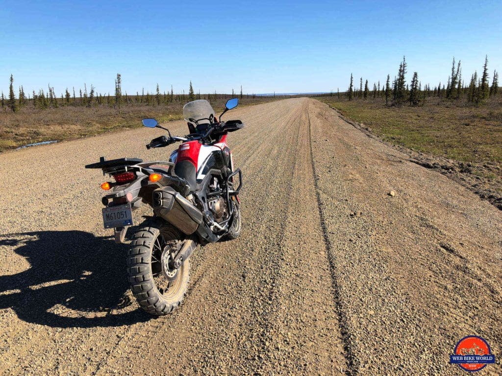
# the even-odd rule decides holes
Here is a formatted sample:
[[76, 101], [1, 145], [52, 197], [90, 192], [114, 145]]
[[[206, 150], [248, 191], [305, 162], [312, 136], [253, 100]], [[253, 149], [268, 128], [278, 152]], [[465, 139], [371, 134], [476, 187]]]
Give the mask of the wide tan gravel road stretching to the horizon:
[[497, 358], [480, 374], [502, 373], [501, 211], [315, 100], [230, 117], [241, 236], [196, 251], [159, 319], [128, 291], [128, 245], [83, 165], [167, 159], [144, 146], [161, 131], [0, 155], [0, 373], [460, 375], [449, 354], [470, 334]]

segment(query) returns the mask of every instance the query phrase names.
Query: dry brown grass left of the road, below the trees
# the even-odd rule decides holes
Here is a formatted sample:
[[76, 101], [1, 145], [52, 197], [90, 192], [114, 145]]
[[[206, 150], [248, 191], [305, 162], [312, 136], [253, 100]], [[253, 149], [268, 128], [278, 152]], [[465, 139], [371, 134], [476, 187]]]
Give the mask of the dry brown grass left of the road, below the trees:
[[[270, 101], [269, 97], [243, 98], [239, 106]], [[211, 101], [217, 113], [224, 108], [226, 99]], [[69, 140], [94, 136], [108, 131], [141, 126], [141, 119], [155, 117], [160, 122], [182, 119], [185, 102], [172, 102], [160, 106], [131, 104], [119, 112], [107, 105], [91, 108], [81, 106], [60, 106], [45, 110], [33, 109], [31, 105], [13, 113], [0, 109], [0, 151], [22, 145], [49, 141]]]

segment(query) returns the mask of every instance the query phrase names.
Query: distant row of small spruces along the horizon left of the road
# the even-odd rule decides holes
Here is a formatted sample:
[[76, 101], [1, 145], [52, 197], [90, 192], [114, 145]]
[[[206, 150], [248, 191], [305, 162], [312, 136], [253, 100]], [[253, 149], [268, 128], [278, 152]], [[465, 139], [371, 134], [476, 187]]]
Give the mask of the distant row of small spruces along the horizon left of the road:
[[[234, 90], [232, 89], [232, 96], [234, 96]], [[145, 93], [145, 89], [142, 89], [141, 94], [137, 91], [136, 95], [128, 94], [128, 92], [122, 91], [122, 77], [120, 73], [117, 73], [115, 78], [115, 92], [113, 95], [110, 93], [102, 94], [97, 93], [96, 88], [91, 85], [89, 89], [87, 89], [87, 85], [84, 84], [84, 89], [78, 89], [78, 92], [75, 92], [75, 87], [72, 87], [72, 90], [68, 90], [66, 88], [64, 93], [61, 93], [61, 96], [57, 96], [54, 87], [50, 84], [47, 87], [47, 90], [39, 89], [38, 92], [33, 90], [32, 93], [26, 94], [23, 88], [23, 85], [19, 87], [18, 96], [16, 97], [15, 89], [14, 89], [14, 77], [11, 74], [10, 84], [9, 84], [9, 94], [6, 97], [4, 92], [0, 94], [0, 100], [2, 103], [2, 108], [4, 110], [11, 110], [12, 112], [17, 112], [23, 107], [31, 106], [34, 109], [48, 109], [48, 108], [58, 108], [61, 106], [82, 106], [82, 107], [93, 107], [97, 105], [107, 105], [113, 108], [118, 109], [120, 111], [121, 108], [130, 105], [147, 105], [147, 106], [160, 106], [167, 105], [173, 102], [187, 102], [193, 101], [196, 99], [207, 99], [207, 100], [217, 100], [221, 98], [226, 98], [227, 94], [217, 93], [216, 90], [214, 93], [201, 94], [200, 91], [195, 93], [192, 85], [192, 81], [190, 81], [188, 86], [188, 93], [185, 94], [183, 90], [182, 93], [174, 93], [173, 86], [171, 85], [171, 89], [167, 91], [160, 90], [159, 84], [157, 84], [157, 88], [155, 92], [150, 93], [147, 91]], [[240, 86], [240, 99], [248, 98], [255, 99], [257, 94], [243, 94], [242, 86]]]

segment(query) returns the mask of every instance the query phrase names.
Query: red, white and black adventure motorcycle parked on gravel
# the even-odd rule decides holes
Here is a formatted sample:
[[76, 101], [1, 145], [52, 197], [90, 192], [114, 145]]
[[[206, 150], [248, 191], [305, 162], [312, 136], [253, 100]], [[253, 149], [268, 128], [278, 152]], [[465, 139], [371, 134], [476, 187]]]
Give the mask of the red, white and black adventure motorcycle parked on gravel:
[[153, 217], [134, 234], [127, 258], [131, 290], [148, 313], [165, 315], [181, 304], [190, 255], [197, 246], [236, 239], [240, 234], [242, 172], [234, 169], [226, 139], [244, 124], [221, 120], [237, 104], [237, 98], [229, 99], [219, 119], [206, 100], [185, 104], [183, 117], [190, 133], [183, 137], [172, 136], [153, 118], [143, 119], [145, 127], [168, 133], [154, 138], [147, 149], [181, 142], [169, 161], [100, 157], [99, 162], [85, 166], [113, 177], [101, 188], [105, 191], [104, 228], [114, 230], [115, 242], [124, 242], [135, 210], [142, 204], [153, 209]]

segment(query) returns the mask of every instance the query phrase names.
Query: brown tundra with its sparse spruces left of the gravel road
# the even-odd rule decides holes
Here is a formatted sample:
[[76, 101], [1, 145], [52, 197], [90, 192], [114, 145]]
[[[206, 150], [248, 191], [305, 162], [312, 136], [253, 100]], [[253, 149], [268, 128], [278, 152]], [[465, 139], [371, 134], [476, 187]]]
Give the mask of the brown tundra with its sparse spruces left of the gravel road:
[[[233, 93], [232, 89], [232, 93]], [[185, 91], [175, 93], [157, 84], [155, 90], [128, 93], [122, 90], [122, 77], [115, 78], [114, 93], [98, 91], [92, 84], [83, 88], [66, 88], [56, 94], [50, 84], [47, 88], [25, 93], [23, 85], [16, 86], [10, 76], [9, 93], [0, 93], [0, 151], [22, 145], [49, 141], [68, 140], [97, 135], [107, 131], [141, 126], [141, 119], [155, 117], [161, 122], [182, 119], [186, 102], [207, 99], [215, 111], [222, 111], [228, 94], [195, 93], [192, 82]], [[240, 105], [263, 103], [280, 96], [243, 94], [240, 87]]]

